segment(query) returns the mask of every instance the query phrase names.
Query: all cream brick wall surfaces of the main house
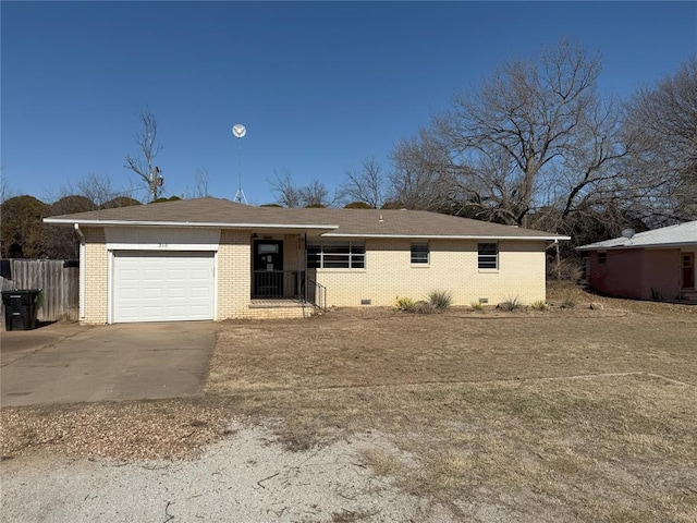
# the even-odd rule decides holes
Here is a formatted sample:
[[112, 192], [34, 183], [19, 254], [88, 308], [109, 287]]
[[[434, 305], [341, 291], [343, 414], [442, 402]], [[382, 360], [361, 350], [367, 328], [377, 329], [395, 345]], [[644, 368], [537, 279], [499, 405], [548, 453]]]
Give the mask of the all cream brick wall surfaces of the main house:
[[[85, 228], [85, 324], [107, 323], [108, 253], [102, 228]], [[222, 230], [218, 250], [217, 320], [241, 318], [292, 318], [309, 315], [302, 307], [250, 308], [252, 231]], [[303, 236], [276, 235], [283, 240], [285, 270], [304, 265]], [[424, 299], [432, 290], [453, 294], [455, 305], [480, 297], [497, 304], [509, 297], [524, 303], [545, 300], [545, 243], [499, 242], [499, 270], [477, 268], [477, 242], [431, 241], [430, 263], [411, 264], [408, 240], [366, 241], [365, 269], [318, 269], [316, 279], [327, 288], [327, 305], [390, 306], [396, 296]]]

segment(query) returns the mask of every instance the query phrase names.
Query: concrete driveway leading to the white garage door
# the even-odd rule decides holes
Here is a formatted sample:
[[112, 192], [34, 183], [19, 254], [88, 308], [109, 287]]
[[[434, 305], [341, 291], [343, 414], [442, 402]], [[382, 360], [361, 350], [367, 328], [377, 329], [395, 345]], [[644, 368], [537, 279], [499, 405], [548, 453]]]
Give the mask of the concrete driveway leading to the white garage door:
[[217, 324], [182, 321], [1, 332], [2, 406], [199, 396]]

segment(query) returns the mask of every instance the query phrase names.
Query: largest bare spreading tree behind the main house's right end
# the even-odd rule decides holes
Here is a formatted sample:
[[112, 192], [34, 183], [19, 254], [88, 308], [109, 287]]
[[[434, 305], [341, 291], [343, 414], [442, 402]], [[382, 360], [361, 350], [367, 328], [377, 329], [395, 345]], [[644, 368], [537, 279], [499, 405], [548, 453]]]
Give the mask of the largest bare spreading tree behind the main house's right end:
[[510, 224], [550, 204], [568, 215], [616, 184], [625, 155], [613, 106], [597, 93], [600, 69], [599, 57], [568, 42], [508, 62], [395, 156], [437, 183], [431, 206]]

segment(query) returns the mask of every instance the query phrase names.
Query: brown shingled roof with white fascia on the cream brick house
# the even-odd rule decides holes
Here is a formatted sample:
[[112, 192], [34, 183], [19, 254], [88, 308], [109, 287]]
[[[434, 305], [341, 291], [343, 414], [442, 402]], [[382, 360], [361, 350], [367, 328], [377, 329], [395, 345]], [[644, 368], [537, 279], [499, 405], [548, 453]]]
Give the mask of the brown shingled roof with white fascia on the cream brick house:
[[325, 238], [568, 240], [568, 236], [424, 210], [255, 207], [197, 198], [45, 218], [82, 226], [216, 227], [307, 232]]

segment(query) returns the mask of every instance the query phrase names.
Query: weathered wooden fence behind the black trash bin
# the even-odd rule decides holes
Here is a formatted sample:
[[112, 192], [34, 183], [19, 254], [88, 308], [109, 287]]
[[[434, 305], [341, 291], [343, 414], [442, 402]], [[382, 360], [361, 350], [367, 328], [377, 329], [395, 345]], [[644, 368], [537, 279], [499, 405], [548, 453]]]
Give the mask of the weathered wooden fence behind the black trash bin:
[[[60, 259], [9, 259], [3, 262], [2, 290], [42, 289], [37, 318], [40, 321], [77, 321], [80, 268]], [[9, 269], [9, 278], [4, 272]], [[2, 307], [4, 321], [4, 307]]]

